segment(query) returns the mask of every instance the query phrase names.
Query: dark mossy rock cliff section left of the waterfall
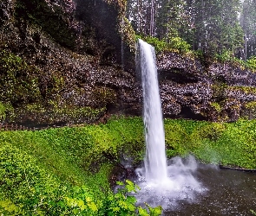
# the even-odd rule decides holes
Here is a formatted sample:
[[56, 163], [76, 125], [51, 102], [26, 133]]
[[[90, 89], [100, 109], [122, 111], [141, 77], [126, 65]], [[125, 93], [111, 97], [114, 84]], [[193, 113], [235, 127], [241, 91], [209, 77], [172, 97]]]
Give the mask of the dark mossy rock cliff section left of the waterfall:
[[132, 68], [123, 59], [132, 56], [134, 34], [120, 29], [122, 7], [107, 1], [3, 0], [2, 121], [93, 122], [109, 112], [137, 110], [135, 78], [122, 70]]

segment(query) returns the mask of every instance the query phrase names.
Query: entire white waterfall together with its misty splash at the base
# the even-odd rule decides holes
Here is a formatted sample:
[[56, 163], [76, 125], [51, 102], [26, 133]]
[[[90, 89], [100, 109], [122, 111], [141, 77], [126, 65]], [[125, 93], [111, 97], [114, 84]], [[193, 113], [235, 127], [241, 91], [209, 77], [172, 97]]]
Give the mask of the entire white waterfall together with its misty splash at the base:
[[185, 162], [176, 157], [169, 161], [165, 150], [165, 133], [161, 112], [161, 98], [157, 79], [154, 48], [138, 41], [137, 63], [140, 64], [143, 89], [143, 121], [147, 144], [145, 167], [137, 168], [137, 194], [140, 203], [164, 208], [175, 206], [177, 200], [193, 200], [194, 194], [204, 190], [194, 178], [197, 163], [189, 157]]

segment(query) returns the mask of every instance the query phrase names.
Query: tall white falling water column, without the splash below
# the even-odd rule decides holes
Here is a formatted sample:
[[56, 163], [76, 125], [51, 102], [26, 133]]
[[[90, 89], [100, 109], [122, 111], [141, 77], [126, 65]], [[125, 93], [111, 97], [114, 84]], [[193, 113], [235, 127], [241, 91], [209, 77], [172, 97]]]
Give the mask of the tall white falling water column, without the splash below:
[[143, 121], [147, 144], [146, 181], [162, 182], [167, 179], [167, 157], [163, 128], [161, 98], [159, 93], [154, 48], [138, 41], [141, 82], [143, 89]]

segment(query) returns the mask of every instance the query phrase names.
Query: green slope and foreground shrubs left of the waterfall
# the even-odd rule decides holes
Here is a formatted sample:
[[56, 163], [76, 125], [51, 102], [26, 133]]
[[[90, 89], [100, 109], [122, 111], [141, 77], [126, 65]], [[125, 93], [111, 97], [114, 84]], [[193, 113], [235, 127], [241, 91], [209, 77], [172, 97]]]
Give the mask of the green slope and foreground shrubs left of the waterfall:
[[[1, 132], [0, 213], [160, 215], [161, 207], [148, 206], [147, 210], [135, 206], [131, 193], [138, 187], [133, 182], [126, 181], [117, 194], [111, 192], [108, 184], [111, 164], [118, 160], [118, 148], [126, 136], [132, 143], [132, 122], [138, 128], [141, 119], [58, 130]], [[114, 128], [125, 124], [131, 129], [116, 136]], [[85, 171], [94, 162], [101, 167], [93, 173]]]

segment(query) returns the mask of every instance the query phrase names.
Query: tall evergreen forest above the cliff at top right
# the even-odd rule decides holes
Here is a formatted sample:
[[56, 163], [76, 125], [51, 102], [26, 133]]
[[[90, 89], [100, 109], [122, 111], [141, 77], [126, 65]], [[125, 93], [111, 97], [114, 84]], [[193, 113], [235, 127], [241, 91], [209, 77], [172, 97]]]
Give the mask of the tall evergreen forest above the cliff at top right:
[[207, 55], [253, 60], [256, 54], [254, 0], [128, 0], [136, 34]]

